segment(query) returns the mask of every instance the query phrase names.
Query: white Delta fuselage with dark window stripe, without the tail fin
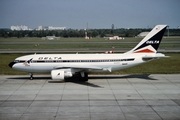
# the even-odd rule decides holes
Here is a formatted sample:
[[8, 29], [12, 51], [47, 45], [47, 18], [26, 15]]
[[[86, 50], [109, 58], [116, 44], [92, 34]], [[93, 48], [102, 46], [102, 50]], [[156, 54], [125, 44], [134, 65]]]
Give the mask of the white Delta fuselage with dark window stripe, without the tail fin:
[[[25, 72], [51, 72], [76, 68], [75, 72], [103, 72], [125, 69], [144, 63], [144, 54], [34, 54], [15, 59], [12, 67]], [[27, 61], [30, 60], [31, 61]], [[79, 68], [79, 69], [78, 69]]]

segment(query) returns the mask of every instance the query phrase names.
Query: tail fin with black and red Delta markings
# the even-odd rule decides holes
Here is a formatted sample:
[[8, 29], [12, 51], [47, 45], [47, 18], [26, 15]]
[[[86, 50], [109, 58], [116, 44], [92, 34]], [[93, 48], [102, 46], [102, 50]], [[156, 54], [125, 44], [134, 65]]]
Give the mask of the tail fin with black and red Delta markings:
[[156, 25], [136, 47], [126, 53], [156, 53], [167, 25]]

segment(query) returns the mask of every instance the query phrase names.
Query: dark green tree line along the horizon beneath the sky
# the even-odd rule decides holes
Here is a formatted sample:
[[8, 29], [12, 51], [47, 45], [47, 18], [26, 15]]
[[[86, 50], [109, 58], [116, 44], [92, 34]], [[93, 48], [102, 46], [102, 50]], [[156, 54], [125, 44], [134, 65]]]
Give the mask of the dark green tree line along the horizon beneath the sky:
[[[89, 30], [10, 30], [10, 29], [0, 29], [0, 37], [46, 37], [46, 36], [56, 36], [56, 37], [85, 37], [85, 32], [87, 32], [88, 37], [110, 37], [110, 36], [120, 36], [120, 37], [135, 37], [141, 32], [149, 32], [151, 29], [89, 29]], [[180, 36], [180, 29], [169, 29], [166, 30], [165, 36]]]

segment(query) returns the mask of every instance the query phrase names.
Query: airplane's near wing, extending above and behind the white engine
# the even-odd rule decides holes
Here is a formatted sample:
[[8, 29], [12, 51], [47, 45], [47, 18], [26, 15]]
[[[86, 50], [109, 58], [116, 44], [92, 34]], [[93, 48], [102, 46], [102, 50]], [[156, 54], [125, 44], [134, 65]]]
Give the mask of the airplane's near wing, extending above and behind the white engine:
[[67, 69], [67, 68], [73, 68], [73, 69], [79, 69], [79, 70], [102, 70], [102, 71], [109, 71], [111, 72], [111, 67], [97, 67], [97, 66], [81, 66], [81, 65], [63, 65], [63, 66], [56, 66], [54, 69]]

